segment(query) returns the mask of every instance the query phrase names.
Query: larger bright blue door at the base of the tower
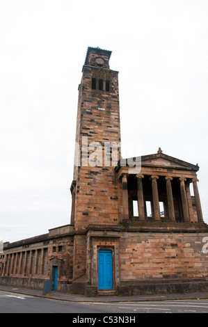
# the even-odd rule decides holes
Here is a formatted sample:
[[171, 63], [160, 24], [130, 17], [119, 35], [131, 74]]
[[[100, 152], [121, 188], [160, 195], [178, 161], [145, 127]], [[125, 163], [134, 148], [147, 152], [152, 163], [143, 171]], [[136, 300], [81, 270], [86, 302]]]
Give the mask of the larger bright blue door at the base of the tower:
[[111, 250], [98, 252], [98, 289], [113, 288], [113, 260]]

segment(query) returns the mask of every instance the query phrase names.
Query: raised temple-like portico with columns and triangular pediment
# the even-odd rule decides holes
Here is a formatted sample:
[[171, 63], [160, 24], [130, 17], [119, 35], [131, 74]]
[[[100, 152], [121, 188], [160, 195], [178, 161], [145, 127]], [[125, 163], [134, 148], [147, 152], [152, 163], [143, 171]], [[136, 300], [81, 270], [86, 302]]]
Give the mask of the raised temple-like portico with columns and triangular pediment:
[[122, 182], [121, 220], [202, 222], [198, 169], [198, 165], [170, 157], [160, 149], [157, 154], [141, 157], [139, 173], [138, 169], [134, 172], [134, 168], [118, 165], [115, 171]]

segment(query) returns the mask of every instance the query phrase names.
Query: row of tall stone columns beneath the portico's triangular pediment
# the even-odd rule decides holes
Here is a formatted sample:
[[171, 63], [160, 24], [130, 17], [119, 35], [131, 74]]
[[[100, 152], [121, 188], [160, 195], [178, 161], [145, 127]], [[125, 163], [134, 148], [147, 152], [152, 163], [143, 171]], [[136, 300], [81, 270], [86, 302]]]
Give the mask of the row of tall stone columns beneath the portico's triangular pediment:
[[[129, 200], [128, 200], [128, 187], [127, 187], [127, 174], [122, 174], [122, 207], [123, 207], [123, 218], [129, 218]], [[137, 200], [138, 200], [138, 216], [139, 221], [145, 220], [145, 202], [144, 202], [144, 195], [143, 195], [143, 178], [145, 176], [143, 174], [136, 175], [137, 180]], [[174, 201], [173, 201], [173, 191], [172, 191], [172, 184], [171, 181], [173, 177], [171, 176], [157, 176], [151, 175], [150, 180], [152, 181], [152, 203], [154, 209], [154, 221], [160, 221], [160, 208], [159, 208], [159, 192], [157, 186], [157, 180], [159, 178], [163, 178], [166, 180], [166, 194], [168, 200], [168, 212], [169, 212], [169, 221], [175, 221], [175, 208], [174, 208]], [[174, 177], [176, 178], [176, 177]], [[192, 199], [190, 193], [189, 184], [193, 183], [193, 191], [195, 196], [195, 207], [198, 216], [198, 222], [203, 221], [202, 217], [202, 208], [200, 204], [200, 196], [198, 192], [198, 179], [186, 179], [185, 177], [177, 177], [179, 181], [179, 188], [180, 188], [180, 196], [182, 202], [182, 212], [184, 217], [184, 222], [194, 221], [194, 214], [193, 214], [193, 206], [192, 206]]]

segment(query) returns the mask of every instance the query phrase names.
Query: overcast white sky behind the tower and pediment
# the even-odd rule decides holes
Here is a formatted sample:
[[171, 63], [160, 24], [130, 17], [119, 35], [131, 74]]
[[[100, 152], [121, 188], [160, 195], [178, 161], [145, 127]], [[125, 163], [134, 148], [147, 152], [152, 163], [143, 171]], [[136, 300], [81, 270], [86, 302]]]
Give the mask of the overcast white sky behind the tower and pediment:
[[70, 223], [88, 46], [113, 51], [122, 143], [198, 163], [208, 223], [207, 17], [207, 0], [0, 0], [0, 240]]

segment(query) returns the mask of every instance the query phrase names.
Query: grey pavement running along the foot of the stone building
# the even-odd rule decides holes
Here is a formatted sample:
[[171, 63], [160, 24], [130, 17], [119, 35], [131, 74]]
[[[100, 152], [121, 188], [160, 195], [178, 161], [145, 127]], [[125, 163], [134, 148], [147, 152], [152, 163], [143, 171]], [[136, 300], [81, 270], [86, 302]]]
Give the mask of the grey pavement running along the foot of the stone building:
[[59, 301], [86, 302], [86, 303], [109, 303], [109, 302], [136, 302], [136, 301], [168, 301], [184, 299], [208, 299], [208, 292], [195, 292], [186, 294], [152, 294], [134, 296], [83, 296], [79, 294], [67, 294], [61, 292], [51, 292], [43, 295], [40, 289], [26, 289], [22, 287], [0, 285], [0, 291], [22, 294], [26, 296], [39, 296]]

